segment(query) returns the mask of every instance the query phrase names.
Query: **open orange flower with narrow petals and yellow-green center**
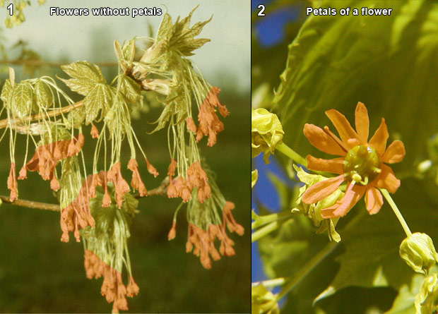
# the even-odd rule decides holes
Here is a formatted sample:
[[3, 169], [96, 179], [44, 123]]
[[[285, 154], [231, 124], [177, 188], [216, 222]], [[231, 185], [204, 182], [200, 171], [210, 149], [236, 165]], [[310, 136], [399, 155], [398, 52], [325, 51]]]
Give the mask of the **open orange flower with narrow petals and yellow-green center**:
[[347, 181], [342, 200], [322, 209], [321, 216], [323, 218], [345, 216], [364, 194], [369, 214], [376, 214], [383, 205], [383, 198], [378, 188], [385, 188], [395, 193], [400, 186], [400, 181], [392, 169], [384, 163], [401, 162], [405, 157], [403, 143], [395, 140], [386, 148], [389, 135], [383, 118], [379, 128], [368, 141], [368, 111], [362, 102], [357, 103], [355, 111], [357, 131], [350, 126], [341, 112], [331, 109], [326, 111], [326, 115], [338, 130], [341, 140], [329, 130], [328, 126], [324, 126], [323, 130], [313, 124], [305, 124], [304, 135], [319, 150], [341, 157], [321, 159], [307, 155], [307, 168], [333, 172], [339, 176], [310, 186], [302, 195], [303, 203], [317, 203], [336, 191], [343, 181]]

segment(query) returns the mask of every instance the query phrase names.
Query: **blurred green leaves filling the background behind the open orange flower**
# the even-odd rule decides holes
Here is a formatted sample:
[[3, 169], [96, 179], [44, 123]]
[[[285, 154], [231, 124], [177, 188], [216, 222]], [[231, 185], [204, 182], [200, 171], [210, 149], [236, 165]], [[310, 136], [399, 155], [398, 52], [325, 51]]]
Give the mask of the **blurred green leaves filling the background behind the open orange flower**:
[[[434, 159], [436, 150], [431, 139], [438, 133], [438, 90], [434, 87], [438, 83], [438, 2], [331, 0], [273, 4], [282, 7], [298, 2], [296, 8], [302, 11], [305, 6], [336, 8], [338, 12], [347, 7], [359, 11], [362, 7], [393, 10], [391, 16], [338, 13], [308, 16], [302, 23], [295, 21], [286, 28], [281, 44], [268, 50], [253, 49], [258, 54], [253, 55], [253, 77], [273, 63], [266, 77], [256, 78], [253, 90], [278, 80], [275, 75], [280, 73], [272, 68], [276, 68], [288, 46], [280, 84], [273, 85], [276, 92], [271, 93], [271, 107], [283, 123], [283, 141], [303, 156], [329, 157], [312, 147], [302, 133], [304, 123], [328, 125], [333, 130], [324, 114], [328, 109], [338, 109], [353, 123], [357, 102], [365, 103], [370, 134], [384, 117], [389, 128], [388, 143], [397, 139], [406, 146], [405, 159], [393, 167], [401, 179], [401, 188], [393, 199], [413, 232], [425, 232], [438, 243], [437, 170], [434, 166], [425, 174], [418, 171], [418, 164]], [[300, 23], [298, 31], [296, 23]], [[257, 45], [256, 38], [253, 44]], [[276, 157], [287, 167], [283, 155], [277, 152]], [[288, 212], [291, 208], [282, 210]], [[382, 313], [391, 306], [390, 313], [414, 313], [413, 295], [419, 285], [410, 287], [418, 275], [398, 255], [398, 246], [406, 235], [389, 205], [385, 203], [377, 215], [369, 216], [360, 200], [340, 219], [336, 230], [341, 242], [329, 243], [326, 236], [314, 234], [307, 219], [297, 215], [259, 241], [268, 277], [287, 277], [296, 282], [283, 313]], [[307, 272], [310, 265], [312, 271]], [[397, 291], [401, 291], [398, 296]], [[412, 301], [410, 307], [405, 306], [408, 301]]]

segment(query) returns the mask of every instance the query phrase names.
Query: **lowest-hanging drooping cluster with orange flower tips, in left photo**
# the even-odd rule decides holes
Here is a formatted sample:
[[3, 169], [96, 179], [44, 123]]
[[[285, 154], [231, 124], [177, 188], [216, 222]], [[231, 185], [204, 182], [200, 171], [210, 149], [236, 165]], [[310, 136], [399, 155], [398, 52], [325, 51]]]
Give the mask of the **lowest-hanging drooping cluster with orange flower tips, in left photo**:
[[[89, 179], [91, 177], [89, 176]], [[111, 198], [116, 198], [112, 183], [108, 183], [106, 191]], [[118, 313], [119, 310], [128, 310], [126, 296], [136, 296], [139, 290], [132, 277], [127, 248], [127, 239], [130, 236], [129, 224], [136, 212], [138, 200], [126, 193], [120, 207], [115, 203], [109, 207], [102, 207], [104, 198], [102, 188], [98, 187], [95, 193], [96, 198], [90, 200], [95, 227], [81, 230], [85, 247], [85, 272], [88, 279], [103, 277], [100, 293], [105, 296], [108, 303], [113, 303], [112, 313]], [[123, 268], [128, 272], [127, 285], [122, 279]]]

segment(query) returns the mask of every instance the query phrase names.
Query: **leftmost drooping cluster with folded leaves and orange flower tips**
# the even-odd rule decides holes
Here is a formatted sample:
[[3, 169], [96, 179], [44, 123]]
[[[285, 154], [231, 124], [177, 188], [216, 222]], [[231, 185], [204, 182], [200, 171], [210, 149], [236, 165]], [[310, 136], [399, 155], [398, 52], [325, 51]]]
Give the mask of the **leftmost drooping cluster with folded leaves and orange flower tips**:
[[[60, 106], [61, 98], [58, 97], [55, 101], [55, 92], [58, 96], [60, 95], [58, 87], [51, 78], [35, 78], [16, 83], [15, 71], [13, 68], [9, 68], [9, 79], [4, 83], [0, 99], [8, 114], [8, 129], [10, 130], [11, 170], [8, 176], [8, 189], [11, 191], [11, 201], [18, 198], [15, 170], [17, 132], [27, 135], [26, 151], [28, 150], [29, 138], [37, 143], [34, 136], [40, 135], [41, 137], [34, 157], [20, 169], [18, 179], [26, 179], [27, 170], [38, 171], [42, 179], [50, 180], [50, 185], [55, 191], [59, 189], [59, 182], [55, 176], [55, 168], [59, 160], [76, 155], [82, 148], [83, 136], [81, 133], [73, 137], [72, 132], [71, 140], [64, 141], [66, 131], [61, 127], [54, 127], [53, 121], [47, 114], [47, 109], [55, 109], [57, 104]], [[67, 102], [72, 102], [69, 97], [62, 95]], [[38, 123], [30, 122], [32, 114], [39, 116]]]

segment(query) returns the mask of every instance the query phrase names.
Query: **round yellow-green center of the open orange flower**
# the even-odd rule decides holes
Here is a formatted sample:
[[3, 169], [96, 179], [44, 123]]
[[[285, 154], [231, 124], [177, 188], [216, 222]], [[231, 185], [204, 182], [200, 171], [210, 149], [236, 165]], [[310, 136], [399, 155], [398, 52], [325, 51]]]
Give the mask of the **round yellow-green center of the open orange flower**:
[[381, 172], [379, 154], [367, 145], [358, 145], [349, 150], [343, 166], [347, 181], [354, 180], [362, 186], [377, 179]]

